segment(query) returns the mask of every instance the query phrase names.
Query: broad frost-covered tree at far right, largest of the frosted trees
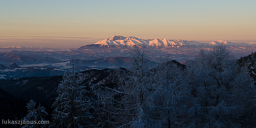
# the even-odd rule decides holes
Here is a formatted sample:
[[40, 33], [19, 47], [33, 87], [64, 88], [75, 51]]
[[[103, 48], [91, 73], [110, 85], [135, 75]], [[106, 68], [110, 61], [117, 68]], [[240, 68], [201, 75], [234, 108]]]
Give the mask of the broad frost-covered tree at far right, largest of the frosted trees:
[[200, 51], [187, 69], [188, 127], [241, 128], [245, 121], [252, 123], [246, 115], [255, 109], [255, 87], [224, 44]]

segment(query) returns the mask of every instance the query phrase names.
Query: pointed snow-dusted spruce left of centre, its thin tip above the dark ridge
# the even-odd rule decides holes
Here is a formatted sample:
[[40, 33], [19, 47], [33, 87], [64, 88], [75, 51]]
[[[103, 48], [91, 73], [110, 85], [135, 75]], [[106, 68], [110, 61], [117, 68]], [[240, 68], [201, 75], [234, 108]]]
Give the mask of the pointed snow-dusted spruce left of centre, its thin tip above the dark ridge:
[[[71, 60], [74, 65], [74, 60]], [[90, 128], [93, 118], [89, 109], [91, 101], [86, 96], [87, 90], [81, 85], [82, 73], [73, 70], [64, 73], [63, 81], [58, 87], [58, 97], [53, 103], [52, 128]]]

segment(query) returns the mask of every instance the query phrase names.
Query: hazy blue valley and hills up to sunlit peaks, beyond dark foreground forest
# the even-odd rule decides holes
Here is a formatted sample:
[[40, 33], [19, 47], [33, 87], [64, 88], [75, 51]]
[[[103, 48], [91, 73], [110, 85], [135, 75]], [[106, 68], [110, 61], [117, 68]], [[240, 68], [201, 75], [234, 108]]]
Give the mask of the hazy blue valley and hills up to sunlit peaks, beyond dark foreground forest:
[[71, 69], [72, 57], [75, 59], [76, 71], [114, 69], [119, 66], [129, 68], [129, 58], [132, 57], [130, 52], [134, 46], [145, 47], [147, 59], [153, 65], [159, 63], [166, 55], [181, 63], [193, 60], [200, 50], [208, 51], [221, 43], [227, 46], [236, 59], [256, 50], [256, 44], [253, 42], [246, 44], [214, 40], [211, 43], [200, 43], [181, 39], [141, 39], [122, 35], [114, 35], [77, 49], [9, 46], [0, 48], [0, 79], [63, 75]]

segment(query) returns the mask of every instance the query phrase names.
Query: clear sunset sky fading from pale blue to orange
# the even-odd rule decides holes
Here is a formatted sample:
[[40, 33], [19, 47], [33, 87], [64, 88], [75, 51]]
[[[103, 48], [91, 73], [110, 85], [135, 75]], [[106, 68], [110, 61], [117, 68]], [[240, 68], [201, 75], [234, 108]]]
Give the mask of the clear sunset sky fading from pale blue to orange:
[[78, 48], [113, 35], [256, 42], [256, 0], [0, 0], [0, 47]]

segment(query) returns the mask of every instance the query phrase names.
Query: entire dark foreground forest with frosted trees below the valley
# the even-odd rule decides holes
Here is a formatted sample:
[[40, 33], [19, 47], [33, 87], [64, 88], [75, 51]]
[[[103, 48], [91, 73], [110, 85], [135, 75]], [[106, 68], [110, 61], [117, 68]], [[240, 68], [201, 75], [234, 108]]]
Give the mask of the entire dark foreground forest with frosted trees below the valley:
[[146, 56], [134, 50], [129, 69], [0, 80], [2, 118], [18, 104], [12, 118], [23, 119], [33, 99], [50, 128], [254, 128], [256, 53], [236, 61], [219, 45], [186, 65], [166, 57], [154, 68]]

